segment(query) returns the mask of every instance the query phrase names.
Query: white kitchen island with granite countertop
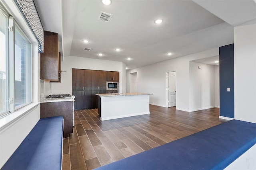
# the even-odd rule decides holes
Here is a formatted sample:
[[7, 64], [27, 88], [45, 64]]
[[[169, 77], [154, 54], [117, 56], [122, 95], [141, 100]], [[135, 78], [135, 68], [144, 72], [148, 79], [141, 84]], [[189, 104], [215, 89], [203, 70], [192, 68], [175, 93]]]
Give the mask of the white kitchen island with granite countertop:
[[100, 120], [149, 114], [149, 93], [108, 93], [98, 96]]

